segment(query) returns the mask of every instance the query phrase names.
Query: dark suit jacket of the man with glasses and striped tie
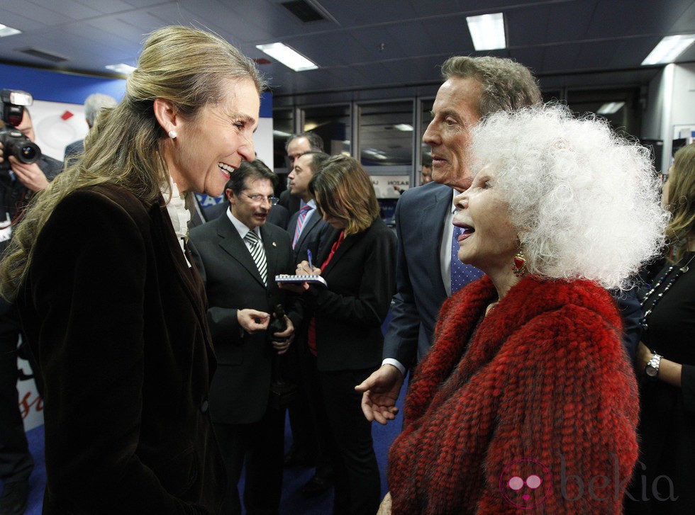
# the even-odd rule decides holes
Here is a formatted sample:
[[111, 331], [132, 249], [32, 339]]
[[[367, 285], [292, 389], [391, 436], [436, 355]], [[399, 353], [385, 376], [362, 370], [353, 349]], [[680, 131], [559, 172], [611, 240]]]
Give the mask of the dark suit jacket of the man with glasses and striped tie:
[[272, 312], [274, 305], [283, 304], [295, 327], [301, 322], [299, 308], [293, 303], [287, 309], [287, 291], [280, 290], [274, 281], [276, 274], [295, 270], [289, 235], [269, 223], [260, 231], [268, 266], [267, 286], [226, 215], [195, 227], [189, 237], [191, 254], [206, 287], [207, 316], [218, 359], [210, 391], [212, 418], [218, 424], [259, 421], [268, 405], [275, 351], [266, 332], [248, 334], [240, 327], [237, 311]]

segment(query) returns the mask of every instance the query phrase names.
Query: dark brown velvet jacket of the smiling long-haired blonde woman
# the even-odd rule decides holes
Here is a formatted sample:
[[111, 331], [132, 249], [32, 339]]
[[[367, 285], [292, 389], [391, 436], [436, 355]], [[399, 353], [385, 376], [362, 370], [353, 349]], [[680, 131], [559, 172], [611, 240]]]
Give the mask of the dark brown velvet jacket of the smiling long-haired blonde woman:
[[17, 303], [45, 380], [43, 513], [217, 513], [203, 286], [162, 198], [70, 193]]

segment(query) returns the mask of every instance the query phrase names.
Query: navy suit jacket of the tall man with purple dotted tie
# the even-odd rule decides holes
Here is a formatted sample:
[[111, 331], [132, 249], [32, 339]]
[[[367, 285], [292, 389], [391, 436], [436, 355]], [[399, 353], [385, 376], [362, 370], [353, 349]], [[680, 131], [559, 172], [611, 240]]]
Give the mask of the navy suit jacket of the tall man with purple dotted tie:
[[384, 358], [406, 368], [432, 345], [439, 309], [447, 293], [442, 281], [440, 247], [453, 190], [430, 182], [406, 190], [396, 204], [396, 295], [384, 338]]

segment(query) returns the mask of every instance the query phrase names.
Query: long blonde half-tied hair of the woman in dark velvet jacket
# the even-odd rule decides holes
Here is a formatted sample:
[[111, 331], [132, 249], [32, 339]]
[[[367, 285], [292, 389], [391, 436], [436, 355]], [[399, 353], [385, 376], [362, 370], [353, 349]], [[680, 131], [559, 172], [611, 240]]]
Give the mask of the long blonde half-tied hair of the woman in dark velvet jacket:
[[252, 80], [257, 90], [265, 83], [255, 64], [216, 35], [196, 28], [170, 26], [145, 41], [138, 69], [126, 81], [118, 106], [104, 109], [85, 140], [82, 159], [35, 196], [0, 264], [0, 294], [16, 297], [28, 273], [33, 248], [55, 206], [78, 188], [113, 183], [145, 202], [153, 202], [169, 172], [160, 156], [167, 134], [153, 109], [155, 98], [172, 103], [179, 115], [194, 120], [207, 104], [221, 101], [225, 79]]

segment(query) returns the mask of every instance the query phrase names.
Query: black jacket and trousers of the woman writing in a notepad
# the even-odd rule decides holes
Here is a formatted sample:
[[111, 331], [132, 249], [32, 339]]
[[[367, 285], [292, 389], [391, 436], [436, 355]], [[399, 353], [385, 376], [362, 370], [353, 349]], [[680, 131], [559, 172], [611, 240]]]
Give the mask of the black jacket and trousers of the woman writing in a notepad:
[[[336, 237], [322, 246], [317, 263], [326, 261]], [[316, 317], [320, 419], [328, 421], [334, 440], [336, 514], [374, 514], [379, 506], [372, 429], [355, 385], [381, 361], [381, 325], [395, 290], [395, 261], [396, 236], [377, 218], [335, 251], [322, 273], [328, 288], [306, 293]]]

